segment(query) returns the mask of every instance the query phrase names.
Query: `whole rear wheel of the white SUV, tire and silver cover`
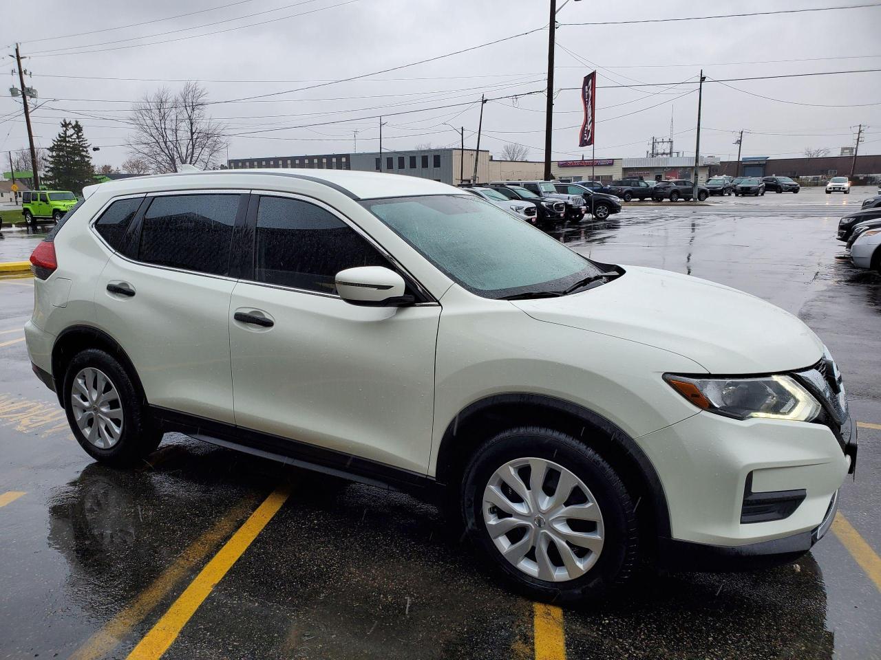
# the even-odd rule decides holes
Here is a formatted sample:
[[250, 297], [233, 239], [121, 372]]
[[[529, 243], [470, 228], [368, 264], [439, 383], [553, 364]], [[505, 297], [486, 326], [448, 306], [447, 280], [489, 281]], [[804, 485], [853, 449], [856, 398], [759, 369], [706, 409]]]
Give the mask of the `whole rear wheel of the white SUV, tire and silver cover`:
[[102, 463], [135, 465], [162, 439], [129, 374], [98, 348], [87, 348], [70, 361], [63, 401], [78, 443]]

